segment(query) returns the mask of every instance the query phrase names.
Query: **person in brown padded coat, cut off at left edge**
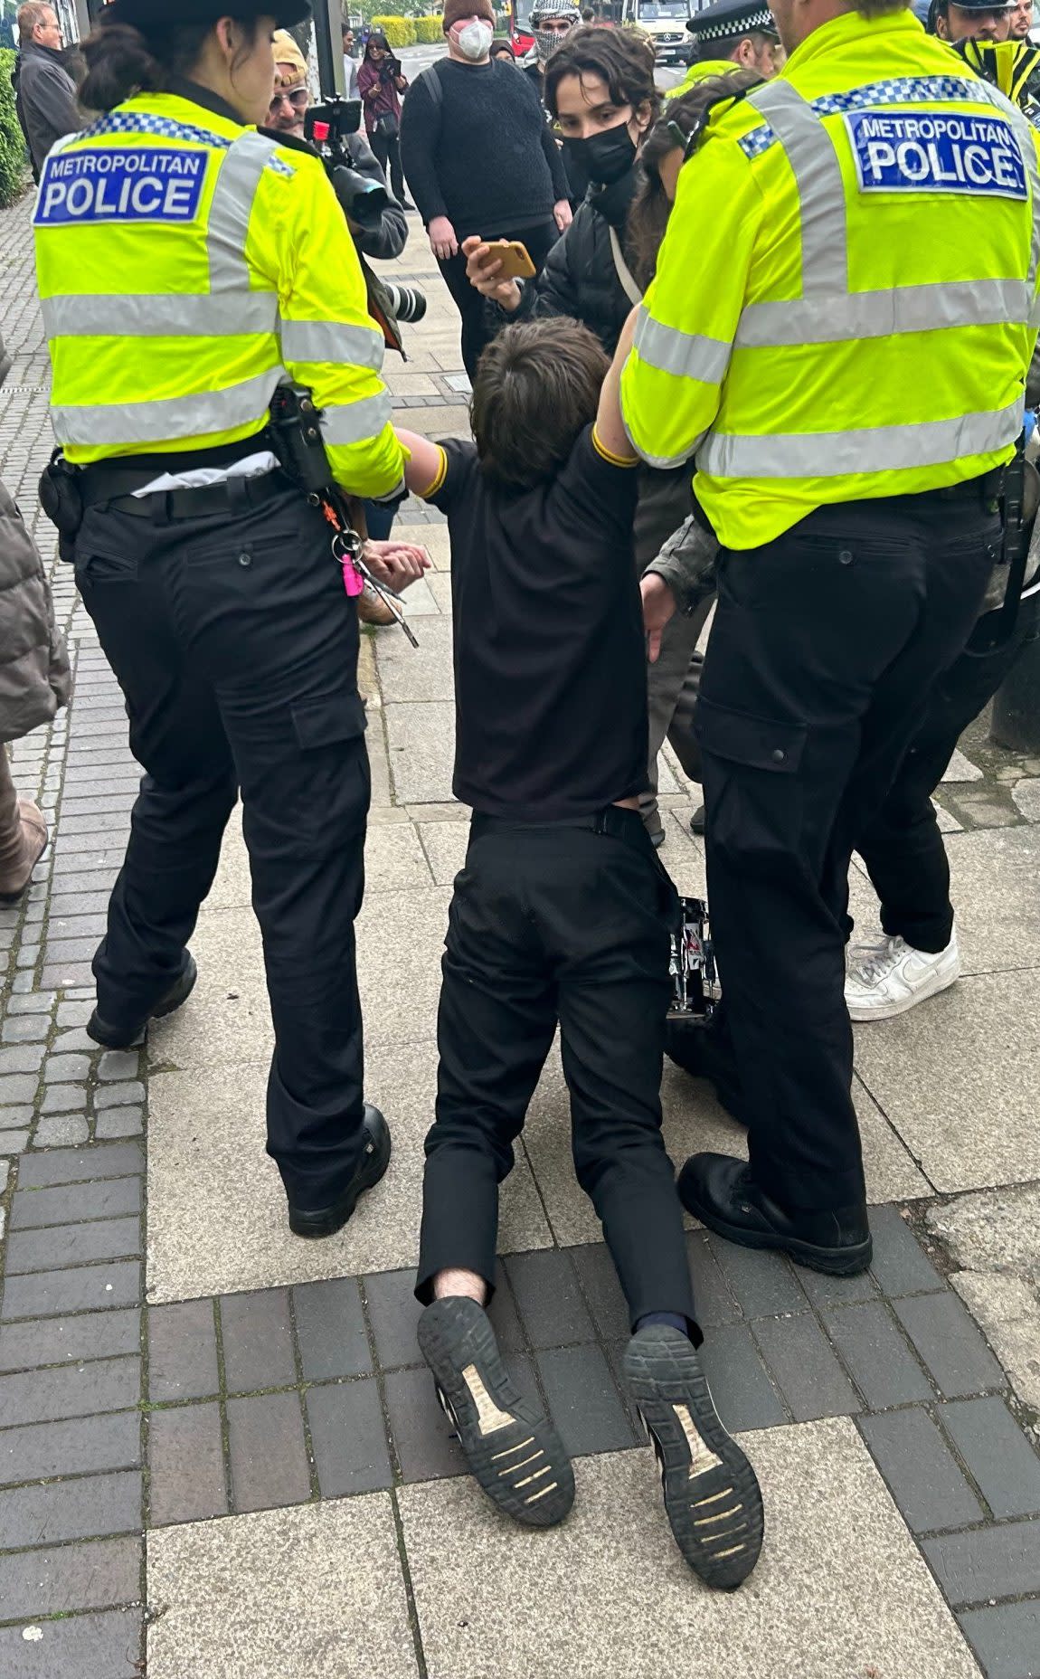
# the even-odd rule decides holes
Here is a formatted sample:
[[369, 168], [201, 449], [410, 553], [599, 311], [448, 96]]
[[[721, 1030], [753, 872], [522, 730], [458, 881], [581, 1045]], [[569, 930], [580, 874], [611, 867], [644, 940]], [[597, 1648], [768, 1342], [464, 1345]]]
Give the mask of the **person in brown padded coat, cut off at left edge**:
[[[10, 356], [0, 339], [0, 384]], [[7, 742], [49, 724], [69, 700], [69, 656], [54, 623], [50, 588], [22, 514], [0, 484], [0, 908], [29, 890], [47, 823], [20, 799]]]

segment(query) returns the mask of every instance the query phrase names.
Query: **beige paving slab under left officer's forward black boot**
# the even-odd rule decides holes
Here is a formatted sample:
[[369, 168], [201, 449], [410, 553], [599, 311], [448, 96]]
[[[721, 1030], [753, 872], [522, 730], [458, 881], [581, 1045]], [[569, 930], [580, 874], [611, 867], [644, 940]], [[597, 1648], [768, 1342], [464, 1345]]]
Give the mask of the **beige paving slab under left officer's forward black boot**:
[[[367, 1095], [387, 1115], [394, 1155], [349, 1224], [322, 1242], [285, 1221], [285, 1192], [263, 1153], [267, 1066], [196, 1066], [151, 1080], [148, 1298], [153, 1305], [238, 1289], [414, 1266], [423, 1138], [433, 1122], [436, 1044], [369, 1051]], [[552, 1241], [530, 1169], [503, 1185], [503, 1253]]]

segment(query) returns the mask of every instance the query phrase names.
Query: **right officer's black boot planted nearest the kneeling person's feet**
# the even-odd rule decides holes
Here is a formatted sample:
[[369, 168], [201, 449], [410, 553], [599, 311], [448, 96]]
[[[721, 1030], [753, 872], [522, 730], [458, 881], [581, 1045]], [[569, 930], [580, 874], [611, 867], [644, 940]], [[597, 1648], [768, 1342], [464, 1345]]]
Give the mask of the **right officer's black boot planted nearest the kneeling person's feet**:
[[785, 1212], [763, 1194], [745, 1160], [715, 1153], [691, 1155], [678, 1187], [694, 1219], [741, 1247], [778, 1247], [827, 1276], [855, 1276], [871, 1264], [866, 1200], [827, 1212]]

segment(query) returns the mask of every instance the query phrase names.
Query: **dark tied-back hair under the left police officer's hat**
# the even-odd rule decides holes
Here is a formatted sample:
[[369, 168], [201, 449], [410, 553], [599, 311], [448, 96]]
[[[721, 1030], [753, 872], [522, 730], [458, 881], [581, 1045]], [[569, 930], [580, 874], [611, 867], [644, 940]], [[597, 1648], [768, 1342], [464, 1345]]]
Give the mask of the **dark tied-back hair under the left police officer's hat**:
[[[260, 20], [228, 15], [245, 35], [245, 45], [231, 65], [237, 69], [257, 44]], [[144, 35], [131, 24], [119, 24], [102, 7], [82, 45], [87, 76], [79, 89], [81, 104], [87, 111], [112, 111], [131, 94], [161, 92], [169, 87], [171, 76], [190, 76], [211, 30], [213, 24], [174, 24]]]

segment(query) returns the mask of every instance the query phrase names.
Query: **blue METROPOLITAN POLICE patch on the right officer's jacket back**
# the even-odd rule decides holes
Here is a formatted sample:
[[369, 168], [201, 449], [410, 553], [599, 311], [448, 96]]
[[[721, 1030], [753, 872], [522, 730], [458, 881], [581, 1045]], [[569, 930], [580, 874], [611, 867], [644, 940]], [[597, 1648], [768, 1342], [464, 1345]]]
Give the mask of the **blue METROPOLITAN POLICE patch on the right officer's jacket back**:
[[1028, 196], [1015, 131], [1000, 116], [852, 111], [844, 123], [861, 193]]

